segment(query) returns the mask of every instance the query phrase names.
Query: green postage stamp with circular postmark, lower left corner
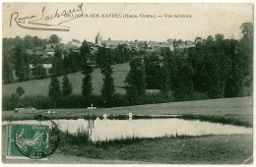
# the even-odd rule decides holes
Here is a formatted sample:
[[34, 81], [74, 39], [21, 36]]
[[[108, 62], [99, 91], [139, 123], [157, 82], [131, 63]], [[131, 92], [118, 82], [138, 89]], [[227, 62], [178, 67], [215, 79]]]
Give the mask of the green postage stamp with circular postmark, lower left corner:
[[47, 125], [8, 124], [7, 159], [46, 159]]

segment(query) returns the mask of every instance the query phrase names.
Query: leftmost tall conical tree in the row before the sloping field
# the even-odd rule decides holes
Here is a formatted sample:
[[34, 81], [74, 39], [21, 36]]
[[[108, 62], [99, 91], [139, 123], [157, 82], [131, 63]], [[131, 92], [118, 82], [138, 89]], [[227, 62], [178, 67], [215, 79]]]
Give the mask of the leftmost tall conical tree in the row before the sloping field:
[[51, 107], [58, 107], [62, 100], [60, 83], [56, 75], [52, 75], [50, 78], [48, 96], [50, 98]]

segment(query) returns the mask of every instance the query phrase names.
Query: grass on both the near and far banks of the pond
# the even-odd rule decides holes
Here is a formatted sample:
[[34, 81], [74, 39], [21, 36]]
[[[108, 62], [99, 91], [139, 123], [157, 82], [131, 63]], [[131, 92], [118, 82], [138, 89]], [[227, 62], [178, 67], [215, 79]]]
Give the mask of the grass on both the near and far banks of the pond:
[[[45, 110], [38, 110], [42, 113]], [[51, 118], [84, 118], [87, 109], [54, 109]], [[182, 114], [191, 118], [252, 127], [252, 97], [171, 102], [116, 108], [98, 108], [96, 115]], [[28, 113], [3, 111], [3, 120], [32, 119]], [[220, 121], [220, 120], [219, 120]], [[3, 131], [6, 128], [2, 129]], [[2, 134], [4, 137], [4, 133]], [[3, 145], [4, 150], [5, 144]], [[96, 143], [69, 143], [61, 136], [60, 144], [47, 161], [6, 160], [5, 163], [97, 163], [97, 164], [251, 164], [252, 135], [222, 135], [156, 139], [116, 140]]]

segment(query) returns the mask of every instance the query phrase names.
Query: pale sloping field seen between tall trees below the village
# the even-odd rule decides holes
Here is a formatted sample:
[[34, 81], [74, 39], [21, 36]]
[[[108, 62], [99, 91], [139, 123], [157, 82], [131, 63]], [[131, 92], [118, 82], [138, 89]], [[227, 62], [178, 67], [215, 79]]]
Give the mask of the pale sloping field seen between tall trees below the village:
[[[113, 65], [112, 68], [113, 68], [112, 77], [114, 79], [116, 92], [125, 93], [125, 89], [122, 87], [125, 85], [124, 81], [127, 76], [127, 73], [130, 70], [129, 64], [125, 63], [125, 64]], [[98, 68], [94, 70], [92, 77], [93, 77], [92, 81], [93, 81], [93, 88], [94, 88], [93, 93], [98, 95], [100, 94], [100, 89], [103, 84], [102, 82], [103, 77]], [[81, 86], [82, 86], [83, 78], [84, 78], [84, 75], [82, 75], [81, 72], [77, 72], [69, 75], [69, 80], [73, 85], [73, 93], [81, 94]], [[59, 82], [62, 83], [62, 77], [59, 77], [58, 79], [59, 79]], [[23, 83], [3, 84], [2, 86], [3, 95], [10, 95], [11, 93], [15, 93], [16, 88], [19, 85], [23, 86], [23, 88], [26, 91], [26, 95], [33, 95], [33, 94], [47, 95], [49, 83], [50, 83], [50, 79], [32, 80], [32, 81], [23, 82]]]

